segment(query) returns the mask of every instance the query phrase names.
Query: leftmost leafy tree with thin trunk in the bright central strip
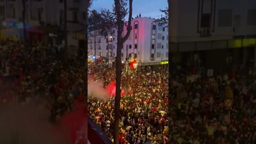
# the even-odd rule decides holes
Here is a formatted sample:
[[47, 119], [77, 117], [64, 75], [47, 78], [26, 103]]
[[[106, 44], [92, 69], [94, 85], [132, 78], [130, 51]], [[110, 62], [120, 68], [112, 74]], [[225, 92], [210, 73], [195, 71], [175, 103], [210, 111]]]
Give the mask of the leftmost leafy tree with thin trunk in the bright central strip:
[[[92, 10], [89, 18], [88, 18], [88, 30], [89, 33], [91, 33], [93, 31], [93, 37], [94, 37], [94, 56], [96, 58], [96, 32], [99, 30], [100, 27], [100, 23], [101, 23], [101, 15], [99, 12], [97, 12], [96, 10]], [[95, 60], [95, 62], [97, 62]]]

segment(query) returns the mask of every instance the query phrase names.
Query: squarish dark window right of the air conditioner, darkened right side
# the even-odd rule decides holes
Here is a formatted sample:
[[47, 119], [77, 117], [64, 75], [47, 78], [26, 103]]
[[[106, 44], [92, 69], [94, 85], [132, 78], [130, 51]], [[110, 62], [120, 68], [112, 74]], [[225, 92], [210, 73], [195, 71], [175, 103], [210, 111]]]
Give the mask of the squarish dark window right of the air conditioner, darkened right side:
[[219, 10], [219, 27], [232, 26], [232, 10]]

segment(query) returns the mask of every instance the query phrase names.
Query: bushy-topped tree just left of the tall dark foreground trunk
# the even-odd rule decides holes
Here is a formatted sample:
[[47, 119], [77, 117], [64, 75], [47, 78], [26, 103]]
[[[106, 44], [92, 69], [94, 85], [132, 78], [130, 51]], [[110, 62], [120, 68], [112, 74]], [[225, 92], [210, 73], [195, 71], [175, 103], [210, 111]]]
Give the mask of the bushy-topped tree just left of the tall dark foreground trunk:
[[101, 25], [99, 27], [99, 33], [105, 37], [107, 40], [107, 47], [108, 47], [108, 66], [109, 66], [109, 35], [113, 36], [113, 30], [115, 28], [115, 23], [114, 23], [114, 15], [107, 9], [102, 9], [101, 10]]

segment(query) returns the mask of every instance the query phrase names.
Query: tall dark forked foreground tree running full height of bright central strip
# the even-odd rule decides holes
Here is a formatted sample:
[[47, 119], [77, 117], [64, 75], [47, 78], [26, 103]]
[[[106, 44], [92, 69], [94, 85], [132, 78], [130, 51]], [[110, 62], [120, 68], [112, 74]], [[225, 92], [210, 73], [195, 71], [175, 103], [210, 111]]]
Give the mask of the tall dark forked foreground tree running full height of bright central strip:
[[114, 0], [113, 5], [114, 14], [117, 26], [117, 52], [116, 52], [116, 95], [115, 95], [115, 120], [114, 120], [114, 143], [118, 144], [119, 133], [119, 119], [120, 119], [120, 99], [121, 99], [121, 51], [123, 43], [128, 39], [131, 34], [131, 21], [132, 21], [132, 1], [129, 0], [129, 19], [127, 33], [122, 37], [124, 29], [124, 18], [127, 14], [126, 2], [128, 0]]

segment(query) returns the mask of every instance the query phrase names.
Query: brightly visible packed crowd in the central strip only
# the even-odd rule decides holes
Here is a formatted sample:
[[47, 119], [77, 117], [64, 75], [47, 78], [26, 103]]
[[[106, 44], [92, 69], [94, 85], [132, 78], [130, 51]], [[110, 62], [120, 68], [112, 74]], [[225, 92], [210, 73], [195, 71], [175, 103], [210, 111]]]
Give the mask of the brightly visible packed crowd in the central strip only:
[[[115, 81], [115, 68], [108, 68], [103, 63], [89, 63], [94, 81], [101, 81], [104, 86]], [[131, 72], [122, 77], [121, 119], [119, 123], [119, 143], [167, 143], [167, 74]], [[115, 99], [105, 100], [97, 97], [89, 100], [89, 115], [102, 127], [113, 140]]]

